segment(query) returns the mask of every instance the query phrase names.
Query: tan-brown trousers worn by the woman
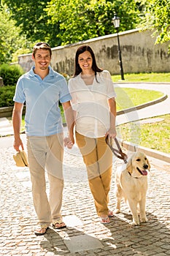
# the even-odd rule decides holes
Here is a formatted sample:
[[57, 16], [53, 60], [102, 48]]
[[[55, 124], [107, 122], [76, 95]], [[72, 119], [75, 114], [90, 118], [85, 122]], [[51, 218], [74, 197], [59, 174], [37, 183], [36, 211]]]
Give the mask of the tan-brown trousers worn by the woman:
[[76, 141], [88, 171], [88, 182], [97, 214], [107, 215], [112, 178], [112, 151], [104, 137], [88, 138], [76, 132]]

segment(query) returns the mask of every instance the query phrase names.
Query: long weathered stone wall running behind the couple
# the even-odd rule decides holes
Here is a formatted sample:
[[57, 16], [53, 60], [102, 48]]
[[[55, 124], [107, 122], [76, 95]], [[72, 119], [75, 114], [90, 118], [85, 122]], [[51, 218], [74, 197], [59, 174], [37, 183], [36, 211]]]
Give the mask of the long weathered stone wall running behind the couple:
[[[170, 72], [169, 42], [155, 45], [155, 37], [151, 35], [151, 31], [141, 32], [139, 29], [119, 33], [124, 73]], [[53, 48], [51, 60], [53, 69], [72, 75], [76, 50], [80, 45], [86, 44], [93, 48], [99, 67], [109, 70], [111, 74], [120, 74], [117, 34]], [[28, 71], [34, 64], [31, 54], [19, 56], [18, 59], [25, 71]]]

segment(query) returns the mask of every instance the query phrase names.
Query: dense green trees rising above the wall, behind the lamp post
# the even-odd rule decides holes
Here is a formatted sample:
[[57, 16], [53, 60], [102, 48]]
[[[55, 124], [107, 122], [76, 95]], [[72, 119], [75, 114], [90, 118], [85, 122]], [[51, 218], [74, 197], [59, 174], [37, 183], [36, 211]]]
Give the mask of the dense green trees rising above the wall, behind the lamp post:
[[27, 39], [45, 41], [51, 47], [114, 33], [114, 12], [121, 18], [121, 31], [134, 29], [139, 23], [136, 0], [1, 1]]

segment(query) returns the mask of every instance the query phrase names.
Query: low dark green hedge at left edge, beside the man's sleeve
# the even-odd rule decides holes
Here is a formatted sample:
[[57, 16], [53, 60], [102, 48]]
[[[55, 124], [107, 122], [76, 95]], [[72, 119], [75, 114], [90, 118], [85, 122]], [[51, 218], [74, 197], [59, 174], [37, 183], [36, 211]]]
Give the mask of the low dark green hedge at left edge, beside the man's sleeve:
[[0, 87], [0, 108], [12, 107], [14, 105], [13, 97], [15, 94], [15, 86]]

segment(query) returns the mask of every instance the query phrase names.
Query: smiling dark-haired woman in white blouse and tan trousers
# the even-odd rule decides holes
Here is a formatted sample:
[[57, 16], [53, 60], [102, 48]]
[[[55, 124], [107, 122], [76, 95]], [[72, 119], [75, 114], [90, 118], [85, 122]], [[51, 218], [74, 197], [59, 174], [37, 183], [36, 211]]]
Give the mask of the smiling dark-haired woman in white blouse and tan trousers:
[[[69, 80], [75, 135], [88, 171], [88, 181], [101, 223], [109, 223], [109, 189], [112, 151], [105, 138], [115, 138], [115, 90], [111, 75], [98, 68], [93, 50], [80, 46], [75, 56], [74, 78]], [[72, 139], [72, 138], [71, 138]]]

